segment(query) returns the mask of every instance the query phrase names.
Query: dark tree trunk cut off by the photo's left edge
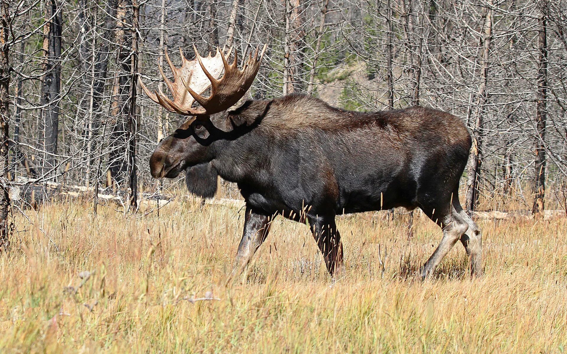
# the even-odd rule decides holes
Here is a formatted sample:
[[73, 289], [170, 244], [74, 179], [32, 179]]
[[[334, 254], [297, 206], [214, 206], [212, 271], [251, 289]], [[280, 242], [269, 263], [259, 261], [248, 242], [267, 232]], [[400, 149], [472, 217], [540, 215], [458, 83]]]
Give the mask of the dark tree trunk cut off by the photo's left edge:
[[8, 138], [10, 122], [10, 0], [0, 1], [2, 12], [0, 21], [0, 250], [6, 250], [8, 246], [8, 211], [10, 207], [10, 195], [8, 194]]

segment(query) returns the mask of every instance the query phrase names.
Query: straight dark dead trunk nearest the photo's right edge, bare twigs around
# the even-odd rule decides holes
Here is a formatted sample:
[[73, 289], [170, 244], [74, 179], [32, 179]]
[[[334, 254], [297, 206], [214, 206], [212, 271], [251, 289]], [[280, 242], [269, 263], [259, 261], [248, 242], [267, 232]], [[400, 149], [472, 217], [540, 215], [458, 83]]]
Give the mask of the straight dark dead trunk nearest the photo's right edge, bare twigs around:
[[536, 150], [534, 207], [532, 214], [544, 211], [545, 197], [545, 125], [547, 123], [547, 1], [541, 3], [538, 36], [538, 103], [536, 107]]

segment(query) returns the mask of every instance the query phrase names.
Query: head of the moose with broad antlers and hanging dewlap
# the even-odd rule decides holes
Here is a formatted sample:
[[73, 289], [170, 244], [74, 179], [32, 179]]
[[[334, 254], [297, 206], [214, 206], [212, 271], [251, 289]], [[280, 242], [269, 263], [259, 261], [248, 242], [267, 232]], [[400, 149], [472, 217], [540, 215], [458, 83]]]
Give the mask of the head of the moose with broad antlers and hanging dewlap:
[[[238, 52], [229, 64], [232, 48], [225, 55], [217, 48], [214, 56], [201, 57], [193, 46], [195, 59], [189, 61], [179, 50], [181, 67], [176, 67], [167, 52], [166, 60], [174, 80], [167, 78], [161, 66], [160, 74], [170, 89], [173, 101], [162, 91], [152, 93], [140, 80], [143, 91], [155, 103], [170, 112], [188, 116], [188, 119], [173, 134], [163, 139], [150, 158], [151, 175], [154, 178], [174, 178], [187, 171], [189, 191], [202, 197], [212, 197], [217, 189], [217, 175], [208, 164], [213, 159], [211, 142], [226, 138], [235, 127], [242, 125], [237, 119], [229, 120], [227, 112], [243, 105], [260, 68], [266, 45], [260, 52], [249, 53], [242, 69], [238, 68]], [[222, 77], [219, 76], [222, 74]], [[210, 95], [204, 93], [210, 89]], [[200, 107], [193, 106], [198, 103]]]

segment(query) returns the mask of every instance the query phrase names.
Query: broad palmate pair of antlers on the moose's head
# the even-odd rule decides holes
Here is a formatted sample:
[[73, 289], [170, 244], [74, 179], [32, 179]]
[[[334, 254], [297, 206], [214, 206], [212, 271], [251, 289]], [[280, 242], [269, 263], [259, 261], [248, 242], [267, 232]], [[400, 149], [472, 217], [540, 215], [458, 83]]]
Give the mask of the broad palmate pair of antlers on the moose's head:
[[[170, 112], [183, 114], [184, 116], [218, 113], [237, 103], [248, 91], [248, 88], [250, 88], [256, 77], [260, 63], [264, 57], [266, 45], [264, 45], [260, 57], [258, 56], [259, 47], [256, 48], [254, 57], [252, 57], [252, 53], [249, 54], [248, 60], [244, 63], [242, 70], [238, 69], [238, 53], [236, 50], [234, 51], [234, 62], [229, 64], [226, 61], [226, 57], [230, 56], [232, 48], [229, 50], [226, 57], [225, 54], [217, 48], [217, 53], [214, 57], [211, 57], [209, 54], [209, 56], [205, 58], [199, 55], [195, 46], [193, 46], [193, 49], [195, 50], [195, 59], [192, 61], [185, 59], [181, 48], [179, 49], [182, 62], [180, 68], [173, 65], [166, 52], [167, 63], [170, 65], [174, 75], [174, 82], [167, 79], [162, 67], [159, 66], [162, 78], [170, 89], [171, 95], [174, 97], [173, 101], [168, 99], [162, 91], [159, 93], [155, 92], [155, 94], [151, 93], [143, 84], [142, 80], [140, 80], [143, 91], [146, 92], [146, 95], [148, 95], [151, 100], [162, 105], [163, 108]], [[197, 63], [202, 70], [199, 70]], [[205, 64], [209, 69], [205, 67]], [[225, 74], [222, 78], [217, 79], [223, 69], [225, 70]], [[209, 87], [211, 88], [211, 95], [209, 97], [202, 96], [202, 93]], [[187, 95], [187, 93], [189, 93], [189, 95]], [[202, 108], [192, 107], [194, 101], [197, 101]]]

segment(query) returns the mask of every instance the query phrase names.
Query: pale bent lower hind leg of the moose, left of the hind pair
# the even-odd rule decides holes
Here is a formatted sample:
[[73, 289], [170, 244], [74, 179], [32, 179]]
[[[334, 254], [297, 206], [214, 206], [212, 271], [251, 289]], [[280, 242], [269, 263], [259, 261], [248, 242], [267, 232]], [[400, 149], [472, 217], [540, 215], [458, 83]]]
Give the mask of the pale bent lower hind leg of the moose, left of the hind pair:
[[[425, 214], [428, 213], [426, 212]], [[448, 251], [451, 250], [452, 246], [460, 240], [468, 229], [467, 221], [459, 215], [459, 212], [457, 212], [452, 205], [450, 210], [447, 212], [447, 215], [439, 216], [439, 219], [434, 219], [433, 216], [430, 216], [430, 218], [437, 222], [437, 224], [443, 229], [443, 238], [441, 239], [441, 242], [439, 242], [437, 249], [435, 249], [431, 257], [429, 257], [428, 261], [422, 267], [422, 279], [433, 274], [435, 267], [437, 267], [439, 262], [441, 262], [441, 259], [445, 257]]]

